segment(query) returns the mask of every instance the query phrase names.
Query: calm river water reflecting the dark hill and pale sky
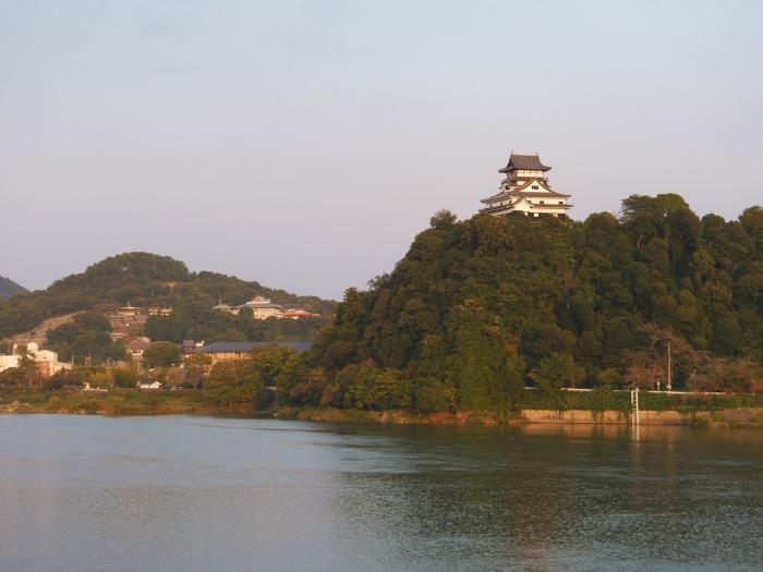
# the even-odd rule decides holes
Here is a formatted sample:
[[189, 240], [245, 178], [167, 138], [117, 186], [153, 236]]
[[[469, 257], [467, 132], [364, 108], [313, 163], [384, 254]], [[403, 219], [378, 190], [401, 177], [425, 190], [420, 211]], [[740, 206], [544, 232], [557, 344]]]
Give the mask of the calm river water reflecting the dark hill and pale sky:
[[763, 431], [5, 415], [0, 570], [763, 570]]

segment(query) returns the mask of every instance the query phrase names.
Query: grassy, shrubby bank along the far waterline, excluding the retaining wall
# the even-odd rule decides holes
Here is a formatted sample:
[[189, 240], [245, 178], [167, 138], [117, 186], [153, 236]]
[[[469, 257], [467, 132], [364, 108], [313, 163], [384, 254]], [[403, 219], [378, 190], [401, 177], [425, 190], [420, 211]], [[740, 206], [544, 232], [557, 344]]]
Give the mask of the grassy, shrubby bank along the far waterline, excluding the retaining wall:
[[[642, 411], [675, 411], [687, 424], [703, 427], [763, 427], [760, 395], [677, 395], [642, 393]], [[627, 393], [607, 390], [549, 395], [526, 391], [521, 410], [513, 412], [464, 411], [416, 413], [404, 410], [366, 411], [336, 407], [283, 406], [271, 411], [282, 419], [347, 423], [432, 425], [504, 425], [521, 423], [523, 411], [630, 411]], [[2, 388], [0, 413], [69, 413], [89, 415], [251, 415], [253, 407], [229, 407], [205, 398], [202, 391], [153, 392], [110, 389], [88, 392], [76, 389]], [[699, 414], [699, 415], [698, 415]]]

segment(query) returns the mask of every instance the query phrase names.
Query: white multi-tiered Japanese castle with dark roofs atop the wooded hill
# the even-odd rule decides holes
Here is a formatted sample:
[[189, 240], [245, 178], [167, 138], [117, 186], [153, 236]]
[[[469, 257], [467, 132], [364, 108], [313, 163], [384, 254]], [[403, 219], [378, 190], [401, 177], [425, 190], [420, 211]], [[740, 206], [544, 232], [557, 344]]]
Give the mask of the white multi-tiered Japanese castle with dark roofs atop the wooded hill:
[[572, 205], [567, 203], [570, 195], [562, 195], [552, 188], [546, 178], [550, 167], [541, 162], [535, 155], [511, 153], [508, 165], [500, 169], [506, 179], [500, 182], [499, 192], [483, 198], [485, 205], [480, 212], [494, 217], [524, 215], [532, 218], [566, 217]]

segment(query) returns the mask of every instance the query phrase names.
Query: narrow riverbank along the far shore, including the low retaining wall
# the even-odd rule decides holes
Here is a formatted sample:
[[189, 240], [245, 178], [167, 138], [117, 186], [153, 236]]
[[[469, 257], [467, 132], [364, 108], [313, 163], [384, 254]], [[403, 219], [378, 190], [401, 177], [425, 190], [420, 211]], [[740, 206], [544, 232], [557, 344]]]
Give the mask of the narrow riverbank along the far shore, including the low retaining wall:
[[[108, 392], [4, 388], [0, 390], [0, 413], [61, 413], [77, 415], [242, 415], [252, 407], [229, 407], [205, 399], [201, 391], [153, 392], [110, 389]], [[523, 409], [512, 413], [462, 411], [415, 413], [411, 411], [339, 410], [336, 407], [284, 406], [269, 412], [281, 419], [335, 423], [388, 423], [396, 425], [508, 425], [508, 424], [605, 424], [630, 425], [631, 413], [619, 410]], [[715, 410], [642, 410], [641, 425], [686, 425], [694, 427], [761, 427], [762, 407]]]

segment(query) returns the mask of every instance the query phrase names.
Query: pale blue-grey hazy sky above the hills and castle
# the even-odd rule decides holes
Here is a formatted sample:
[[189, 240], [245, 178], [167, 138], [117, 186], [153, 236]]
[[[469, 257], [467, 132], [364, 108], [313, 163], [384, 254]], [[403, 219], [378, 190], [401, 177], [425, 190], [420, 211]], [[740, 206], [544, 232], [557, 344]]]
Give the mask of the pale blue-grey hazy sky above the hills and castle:
[[570, 215], [763, 203], [763, 2], [0, 0], [0, 275], [145, 251], [340, 299], [511, 150]]

